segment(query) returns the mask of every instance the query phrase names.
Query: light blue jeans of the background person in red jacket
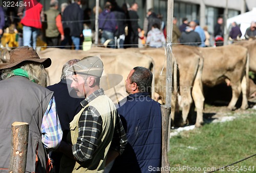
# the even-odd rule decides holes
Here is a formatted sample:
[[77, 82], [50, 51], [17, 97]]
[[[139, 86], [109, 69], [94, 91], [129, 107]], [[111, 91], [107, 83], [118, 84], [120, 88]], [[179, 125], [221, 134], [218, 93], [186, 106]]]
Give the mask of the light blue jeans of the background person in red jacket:
[[33, 45], [33, 48], [35, 50], [37, 34], [37, 28], [23, 26], [23, 45], [28, 45], [30, 47], [31, 45]]

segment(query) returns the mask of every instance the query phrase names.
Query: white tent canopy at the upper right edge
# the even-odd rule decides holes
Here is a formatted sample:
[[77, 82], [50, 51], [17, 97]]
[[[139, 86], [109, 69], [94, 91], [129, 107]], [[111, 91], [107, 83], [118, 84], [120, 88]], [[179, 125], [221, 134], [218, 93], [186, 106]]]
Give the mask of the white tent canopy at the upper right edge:
[[240, 25], [240, 30], [242, 32], [242, 38], [245, 35], [245, 31], [250, 27], [252, 21], [256, 22], [256, 8], [253, 8], [251, 11], [228, 18], [227, 19], [227, 31], [230, 31], [231, 23], [235, 21]]

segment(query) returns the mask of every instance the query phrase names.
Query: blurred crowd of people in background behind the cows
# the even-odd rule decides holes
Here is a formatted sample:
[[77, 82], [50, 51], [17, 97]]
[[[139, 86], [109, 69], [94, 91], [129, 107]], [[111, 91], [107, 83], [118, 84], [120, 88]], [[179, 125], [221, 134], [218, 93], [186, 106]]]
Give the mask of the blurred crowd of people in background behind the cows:
[[[24, 0], [24, 2], [27, 1]], [[47, 46], [71, 48], [73, 45], [75, 50], [81, 50], [84, 29], [99, 33], [99, 44], [110, 48], [139, 47], [141, 44], [149, 47], [163, 47], [166, 44], [166, 27], [162, 15], [156, 14], [153, 8], [148, 9], [141, 27], [139, 26], [140, 17], [137, 13], [139, 6], [136, 2], [131, 6], [127, 3], [119, 6], [116, 1], [110, 1], [104, 4], [103, 10], [99, 7], [98, 27], [100, 31], [95, 31], [95, 25], [92, 22], [94, 19], [91, 18], [92, 13], [95, 14], [95, 8], [92, 10], [88, 7], [82, 10], [80, 6], [84, 5], [83, 0], [74, 0], [73, 3], [62, 3], [61, 5], [57, 0], [51, 0], [49, 2], [50, 9], [47, 11], [43, 10], [43, 6], [37, 0], [33, 0], [33, 2], [37, 5], [36, 8], [29, 10], [29, 7], [24, 6], [18, 9], [8, 8], [5, 11], [0, 8], [0, 35], [3, 34], [4, 26], [13, 25], [18, 33], [18, 45], [29, 45], [34, 48], [39, 35], [40, 39], [47, 43]], [[5, 22], [3, 18], [6, 20], [6, 24], [3, 24]], [[223, 45], [222, 17], [217, 19], [212, 40], [210, 40], [207, 26], [204, 26], [203, 29], [197, 19], [188, 21], [184, 17], [180, 26], [177, 26], [178, 20], [174, 16], [172, 41], [174, 44], [181, 43], [200, 47]], [[196, 26], [194, 26], [195, 24]], [[246, 31], [245, 39], [255, 37], [254, 28], [255, 22], [252, 22], [251, 27]], [[197, 34], [191, 31], [199, 34], [200, 41]], [[191, 35], [193, 35], [192, 38], [189, 38]], [[233, 22], [229, 32], [230, 43], [237, 41], [241, 36], [239, 24]], [[94, 38], [91, 40], [95, 41]], [[212, 43], [214, 45], [211, 45]]]

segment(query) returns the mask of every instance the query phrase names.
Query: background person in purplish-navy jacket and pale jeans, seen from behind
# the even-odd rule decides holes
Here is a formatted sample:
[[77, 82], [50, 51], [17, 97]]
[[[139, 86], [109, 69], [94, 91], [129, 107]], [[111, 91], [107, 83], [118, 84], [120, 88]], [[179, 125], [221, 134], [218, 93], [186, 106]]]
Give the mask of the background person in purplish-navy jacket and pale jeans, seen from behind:
[[115, 48], [114, 34], [117, 29], [117, 23], [115, 14], [110, 11], [111, 8], [111, 3], [106, 2], [104, 11], [99, 15], [99, 29], [102, 30], [100, 42], [104, 44], [106, 40], [110, 40], [108, 44], [111, 48]]

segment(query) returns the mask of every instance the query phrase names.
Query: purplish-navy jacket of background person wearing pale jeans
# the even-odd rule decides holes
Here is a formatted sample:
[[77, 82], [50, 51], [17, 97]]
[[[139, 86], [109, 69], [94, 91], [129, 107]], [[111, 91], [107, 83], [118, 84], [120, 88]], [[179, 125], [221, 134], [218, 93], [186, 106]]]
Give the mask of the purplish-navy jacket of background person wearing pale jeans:
[[117, 22], [116, 22], [115, 14], [113, 12], [111, 12], [109, 10], [104, 10], [104, 11], [102, 11], [102, 13], [100, 13], [99, 29], [115, 33], [115, 31], [117, 29]]

